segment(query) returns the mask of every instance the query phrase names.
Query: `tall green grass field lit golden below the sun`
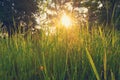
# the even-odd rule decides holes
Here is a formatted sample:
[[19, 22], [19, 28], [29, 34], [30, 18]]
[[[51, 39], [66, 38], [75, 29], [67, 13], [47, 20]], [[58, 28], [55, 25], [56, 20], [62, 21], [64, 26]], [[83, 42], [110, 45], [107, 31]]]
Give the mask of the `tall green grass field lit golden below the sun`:
[[0, 39], [0, 80], [120, 80], [120, 32], [58, 28]]

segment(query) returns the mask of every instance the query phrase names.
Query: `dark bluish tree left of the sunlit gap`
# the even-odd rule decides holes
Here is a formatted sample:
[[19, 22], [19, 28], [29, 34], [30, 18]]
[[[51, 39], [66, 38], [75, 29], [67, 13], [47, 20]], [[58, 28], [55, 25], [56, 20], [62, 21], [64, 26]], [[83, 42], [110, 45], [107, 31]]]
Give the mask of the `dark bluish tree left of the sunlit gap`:
[[7, 27], [8, 35], [12, 35], [20, 21], [24, 21], [26, 25], [29, 21], [35, 24], [35, 14], [38, 10], [37, 0], [1, 0], [0, 3], [0, 20], [2, 26]]

